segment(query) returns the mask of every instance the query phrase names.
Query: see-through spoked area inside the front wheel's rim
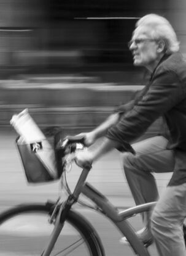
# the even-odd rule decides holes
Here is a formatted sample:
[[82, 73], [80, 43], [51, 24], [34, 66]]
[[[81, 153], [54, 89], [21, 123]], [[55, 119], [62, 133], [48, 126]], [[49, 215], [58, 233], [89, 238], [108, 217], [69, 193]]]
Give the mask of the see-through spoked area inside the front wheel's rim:
[[[26, 255], [41, 255], [53, 229], [53, 225], [48, 224], [47, 218], [45, 214], [27, 213], [3, 223], [0, 226], [0, 250], [4, 250], [4, 253], [10, 253], [12, 250], [15, 254], [24, 256], [26, 250], [29, 250], [29, 254]], [[79, 254], [81, 252], [82, 255], [86, 255], [85, 246], [82, 246], [84, 243], [83, 237], [80, 237], [76, 229], [65, 223], [52, 255], [73, 255], [72, 252], [78, 251]]]

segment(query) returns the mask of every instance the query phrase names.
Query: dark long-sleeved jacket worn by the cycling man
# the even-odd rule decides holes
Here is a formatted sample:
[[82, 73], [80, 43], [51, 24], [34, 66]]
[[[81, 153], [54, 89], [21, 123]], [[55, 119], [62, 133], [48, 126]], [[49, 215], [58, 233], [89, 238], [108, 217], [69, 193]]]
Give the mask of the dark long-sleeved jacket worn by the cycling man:
[[126, 146], [163, 116], [170, 134], [168, 149], [186, 151], [186, 63], [182, 55], [165, 55], [148, 85], [118, 111], [120, 121], [108, 130], [107, 138]]

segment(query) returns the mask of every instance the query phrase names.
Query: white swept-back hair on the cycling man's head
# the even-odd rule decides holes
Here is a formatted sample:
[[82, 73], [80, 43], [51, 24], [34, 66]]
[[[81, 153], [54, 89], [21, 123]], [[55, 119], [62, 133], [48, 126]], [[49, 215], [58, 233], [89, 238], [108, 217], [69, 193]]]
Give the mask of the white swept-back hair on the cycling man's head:
[[136, 27], [145, 26], [150, 28], [153, 39], [165, 41], [165, 52], [171, 54], [179, 51], [179, 41], [176, 32], [165, 17], [157, 14], [147, 14], [136, 22]]

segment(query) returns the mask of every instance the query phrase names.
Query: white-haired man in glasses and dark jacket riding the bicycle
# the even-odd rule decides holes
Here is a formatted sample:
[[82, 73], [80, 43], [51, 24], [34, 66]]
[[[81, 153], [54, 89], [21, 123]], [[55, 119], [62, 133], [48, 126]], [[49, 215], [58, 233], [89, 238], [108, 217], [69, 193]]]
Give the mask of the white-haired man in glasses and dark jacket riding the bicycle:
[[[186, 216], [186, 64], [179, 42], [165, 18], [149, 14], [136, 24], [129, 43], [136, 66], [151, 73], [149, 83], [136, 99], [122, 105], [106, 122], [85, 133], [87, 145], [103, 137], [102, 144], [78, 153], [76, 161], [93, 162], [113, 148], [125, 151], [123, 167], [136, 204], [158, 199], [152, 172], [172, 171], [165, 193], [158, 199], [142, 241], [151, 229], [161, 256], [184, 256], [183, 223]], [[130, 145], [162, 116], [165, 133]], [[149, 224], [150, 223], [150, 224]]]

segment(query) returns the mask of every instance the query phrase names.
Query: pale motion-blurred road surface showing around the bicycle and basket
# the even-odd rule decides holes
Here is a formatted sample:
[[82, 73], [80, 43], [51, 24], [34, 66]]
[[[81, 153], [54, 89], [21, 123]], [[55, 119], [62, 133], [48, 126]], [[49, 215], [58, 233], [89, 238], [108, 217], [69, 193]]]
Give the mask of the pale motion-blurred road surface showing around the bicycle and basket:
[[[20, 157], [15, 146], [17, 134], [14, 131], [0, 131], [0, 210], [6, 210], [12, 205], [23, 202], [45, 202], [47, 199], [56, 199], [60, 194], [59, 182], [31, 186], [26, 182]], [[68, 175], [69, 184], [73, 188], [79, 176], [79, 171], [72, 171]], [[160, 191], [165, 187], [168, 176], [158, 180]], [[117, 151], [111, 152], [93, 165], [88, 181], [109, 197], [112, 204], [120, 209], [134, 205], [128, 185], [120, 165], [120, 156]], [[62, 197], [64, 194], [62, 194]], [[119, 243], [121, 234], [114, 228], [110, 221], [95, 212], [85, 209], [80, 210], [93, 226], [96, 227], [103, 244], [106, 248], [106, 255], [111, 256], [132, 256], [133, 251], [129, 246]], [[137, 220], [133, 221], [139, 225]], [[150, 248], [152, 255], [156, 256], [155, 249]], [[0, 254], [0, 256], [6, 254]], [[14, 255], [10, 254], [9, 255]]]

